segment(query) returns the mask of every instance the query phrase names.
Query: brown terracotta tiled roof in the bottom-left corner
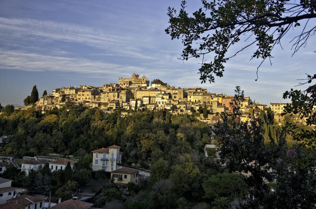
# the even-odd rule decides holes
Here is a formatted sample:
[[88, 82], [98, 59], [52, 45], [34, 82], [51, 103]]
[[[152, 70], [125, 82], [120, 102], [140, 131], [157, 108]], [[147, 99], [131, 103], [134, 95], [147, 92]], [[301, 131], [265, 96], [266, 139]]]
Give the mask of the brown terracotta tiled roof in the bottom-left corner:
[[0, 205], [0, 208], [20, 209], [20, 208], [24, 208], [27, 206], [31, 206], [32, 204], [34, 204], [36, 202], [43, 201], [43, 200], [44, 199], [40, 198], [40, 197], [21, 195], [19, 197], [7, 200], [8, 202]]

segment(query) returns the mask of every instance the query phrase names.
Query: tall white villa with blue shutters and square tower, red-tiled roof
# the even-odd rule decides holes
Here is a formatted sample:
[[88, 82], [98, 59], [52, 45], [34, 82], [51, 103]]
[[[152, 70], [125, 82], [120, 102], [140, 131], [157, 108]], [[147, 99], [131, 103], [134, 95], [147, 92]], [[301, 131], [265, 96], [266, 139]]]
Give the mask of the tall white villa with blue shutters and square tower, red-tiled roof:
[[92, 170], [113, 171], [116, 170], [117, 163], [122, 163], [121, 147], [112, 145], [92, 151]]

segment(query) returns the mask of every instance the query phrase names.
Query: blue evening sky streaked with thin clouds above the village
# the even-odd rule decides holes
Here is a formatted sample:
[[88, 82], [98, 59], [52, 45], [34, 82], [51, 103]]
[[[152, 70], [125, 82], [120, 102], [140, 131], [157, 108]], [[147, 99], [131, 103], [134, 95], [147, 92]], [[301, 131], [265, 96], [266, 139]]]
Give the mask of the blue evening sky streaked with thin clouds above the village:
[[[200, 1], [188, 2], [191, 13], [202, 6]], [[283, 92], [294, 88], [305, 73], [316, 72], [315, 36], [291, 57], [289, 41], [298, 32], [293, 30], [284, 37], [283, 49], [276, 46], [272, 52], [272, 65], [266, 61], [259, 68], [258, 81], [260, 60], [250, 60], [254, 46], [230, 59], [216, 83], [201, 84], [197, 74], [201, 60], [179, 60], [181, 40], [171, 40], [165, 33], [167, 7], [179, 10], [180, 3], [0, 0], [1, 105], [23, 105], [33, 85], [41, 96], [44, 90], [52, 93], [62, 86], [118, 83], [118, 77], [134, 72], [150, 81], [158, 78], [175, 87], [203, 87], [228, 95], [239, 85], [246, 96], [269, 105], [284, 102]]]

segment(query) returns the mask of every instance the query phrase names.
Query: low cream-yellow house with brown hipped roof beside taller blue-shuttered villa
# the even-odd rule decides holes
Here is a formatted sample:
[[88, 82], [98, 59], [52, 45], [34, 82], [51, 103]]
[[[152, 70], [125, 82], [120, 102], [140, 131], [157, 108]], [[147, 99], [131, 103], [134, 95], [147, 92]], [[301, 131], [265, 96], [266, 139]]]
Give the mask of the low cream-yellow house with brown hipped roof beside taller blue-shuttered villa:
[[122, 167], [111, 171], [111, 177], [114, 177], [114, 182], [126, 187], [128, 182], [139, 183], [139, 173], [137, 169]]

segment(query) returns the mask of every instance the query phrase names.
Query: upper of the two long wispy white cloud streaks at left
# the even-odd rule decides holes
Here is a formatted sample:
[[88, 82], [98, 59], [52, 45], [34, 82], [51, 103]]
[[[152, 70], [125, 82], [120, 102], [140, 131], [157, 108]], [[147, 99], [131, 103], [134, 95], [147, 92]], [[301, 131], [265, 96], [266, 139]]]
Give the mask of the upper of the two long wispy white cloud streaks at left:
[[94, 47], [120, 56], [154, 59], [148, 53], [142, 52], [143, 47], [150, 43], [126, 34], [113, 35], [103, 30], [62, 22], [3, 17], [0, 17], [0, 28], [3, 43], [12, 40], [32, 41], [35, 44], [64, 41]]

